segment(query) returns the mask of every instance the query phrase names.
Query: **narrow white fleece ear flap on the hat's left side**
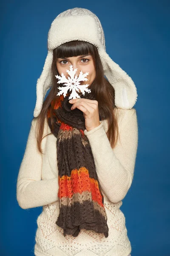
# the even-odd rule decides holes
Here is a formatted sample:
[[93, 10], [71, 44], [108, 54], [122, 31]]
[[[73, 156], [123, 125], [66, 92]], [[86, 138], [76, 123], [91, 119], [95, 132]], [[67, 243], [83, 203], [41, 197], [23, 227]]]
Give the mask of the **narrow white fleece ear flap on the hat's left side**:
[[53, 61], [53, 51], [48, 50], [47, 57], [45, 59], [45, 64], [39, 79], [37, 79], [37, 101], [34, 109], [34, 117], [39, 116], [42, 110], [42, 104], [48, 89], [52, 85], [52, 70], [51, 65]]

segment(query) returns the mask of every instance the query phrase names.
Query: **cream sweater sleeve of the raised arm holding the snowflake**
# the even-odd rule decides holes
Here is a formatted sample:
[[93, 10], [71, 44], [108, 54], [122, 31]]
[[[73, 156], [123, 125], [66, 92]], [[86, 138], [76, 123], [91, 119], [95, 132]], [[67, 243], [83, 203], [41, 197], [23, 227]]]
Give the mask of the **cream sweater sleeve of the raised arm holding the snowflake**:
[[84, 131], [94, 155], [99, 183], [113, 203], [125, 198], [133, 180], [138, 146], [136, 109], [127, 110], [122, 122], [120, 139], [114, 148], [111, 148], [102, 122], [91, 131]]

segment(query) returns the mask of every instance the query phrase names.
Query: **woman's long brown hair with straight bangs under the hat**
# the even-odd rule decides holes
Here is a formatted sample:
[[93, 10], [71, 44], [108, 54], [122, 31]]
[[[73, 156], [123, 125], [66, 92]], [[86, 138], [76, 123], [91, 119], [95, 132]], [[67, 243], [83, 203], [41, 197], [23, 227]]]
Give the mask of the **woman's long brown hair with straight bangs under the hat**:
[[[118, 124], [117, 119], [115, 116], [115, 113], [113, 109], [115, 108], [115, 102], [114, 102], [114, 96], [115, 91], [113, 86], [109, 83], [109, 81], [104, 76], [104, 71], [102, 67], [102, 62], [99, 57], [99, 53], [97, 48], [86, 41], [70, 41], [66, 42], [65, 44], [61, 44], [59, 47], [53, 50], [53, 61], [52, 61], [52, 86], [48, 93], [48, 96], [44, 100], [42, 104], [42, 110], [40, 112], [40, 115], [37, 118], [37, 148], [42, 153], [41, 148], [41, 142], [42, 139], [45, 136], [48, 136], [49, 134], [46, 134], [43, 138], [43, 130], [44, 130], [44, 122], [45, 117], [47, 117], [47, 112], [49, 111], [50, 117], [51, 117], [51, 125], [52, 128], [54, 128], [54, 117], [52, 114], [52, 107], [51, 102], [55, 102], [57, 99], [57, 93], [59, 92], [59, 84], [57, 84], [58, 79], [56, 79], [55, 75], [59, 76], [58, 70], [57, 70], [57, 58], [69, 58], [73, 56], [79, 56], [79, 55], [92, 55], [92, 58], [94, 60], [95, 64], [95, 70], [96, 70], [96, 78], [94, 79], [93, 83], [89, 86], [91, 89], [92, 95], [95, 96], [96, 100], [98, 101], [98, 108], [99, 113], [102, 110], [106, 113], [106, 116], [108, 117], [108, 131], [107, 136], [111, 143], [111, 147], [114, 148], [117, 140], [118, 140]], [[34, 119], [34, 118], [33, 118]], [[50, 133], [51, 134], [51, 133]]]

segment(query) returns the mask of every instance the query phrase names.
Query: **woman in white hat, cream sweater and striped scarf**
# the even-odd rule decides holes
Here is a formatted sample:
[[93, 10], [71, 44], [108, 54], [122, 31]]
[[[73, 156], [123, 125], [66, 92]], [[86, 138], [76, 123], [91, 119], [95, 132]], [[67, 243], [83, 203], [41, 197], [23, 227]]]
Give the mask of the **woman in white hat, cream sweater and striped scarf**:
[[[77, 76], [88, 73], [72, 102], [71, 91], [64, 96], [65, 85], [59, 86], [59, 76], [68, 78], [71, 65]], [[83, 92], [83, 85], [90, 92]], [[130, 256], [119, 208], [133, 180], [136, 100], [132, 79], [105, 52], [96, 15], [82, 8], [59, 14], [48, 32], [48, 55], [17, 179], [20, 207], [42, 206], [36, 256]]]

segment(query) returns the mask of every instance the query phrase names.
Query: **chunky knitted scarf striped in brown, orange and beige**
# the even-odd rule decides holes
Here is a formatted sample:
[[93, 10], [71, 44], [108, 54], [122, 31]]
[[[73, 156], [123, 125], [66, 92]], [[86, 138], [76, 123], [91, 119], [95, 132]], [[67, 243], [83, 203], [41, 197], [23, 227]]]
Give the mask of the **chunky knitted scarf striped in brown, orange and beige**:
[[[94, 99], [92, 93], [85, 93], [81, 98]], [[48, 125], [57, 137], [59, 216], [56, 224], [64, 230], [64, 236], [76, 237], [81, 229], [86, 229], [108, 237], [104, 197], [91, 146], [83, 132], [85, 119], [78, 108], [71, 110], [72, 105], [68, 94], [51, 102], [54, 131], [48, 111]], [[100, 120], [104, 116], [104, 113], [99, 115]]]

